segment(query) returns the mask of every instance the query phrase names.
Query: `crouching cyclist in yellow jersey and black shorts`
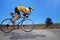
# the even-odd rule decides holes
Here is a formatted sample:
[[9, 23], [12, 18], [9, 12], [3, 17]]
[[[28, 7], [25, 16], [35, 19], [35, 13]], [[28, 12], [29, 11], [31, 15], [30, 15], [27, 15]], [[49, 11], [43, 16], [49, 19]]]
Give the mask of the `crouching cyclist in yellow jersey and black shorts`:
[[24, 6], [17, 6], [15, 7], [15, 17], [14, 17], [14, 25], [16, 25], [16, 20], [21, 17], [20, 12], [22, 12], [23, 16], [26, 16], [27, 13], [30, 13], [33, 11], [33, 7], [24, 7]]

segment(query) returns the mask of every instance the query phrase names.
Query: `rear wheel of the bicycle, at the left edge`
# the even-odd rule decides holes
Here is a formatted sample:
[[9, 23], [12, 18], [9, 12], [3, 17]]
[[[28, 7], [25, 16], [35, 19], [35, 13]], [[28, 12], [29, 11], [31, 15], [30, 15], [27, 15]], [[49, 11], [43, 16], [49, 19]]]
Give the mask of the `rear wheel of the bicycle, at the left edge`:
[[4, 33], [9, 33], [13, 30], [13, 23], [10, 19], [5, 19], [1, 22], [1, 31]]

